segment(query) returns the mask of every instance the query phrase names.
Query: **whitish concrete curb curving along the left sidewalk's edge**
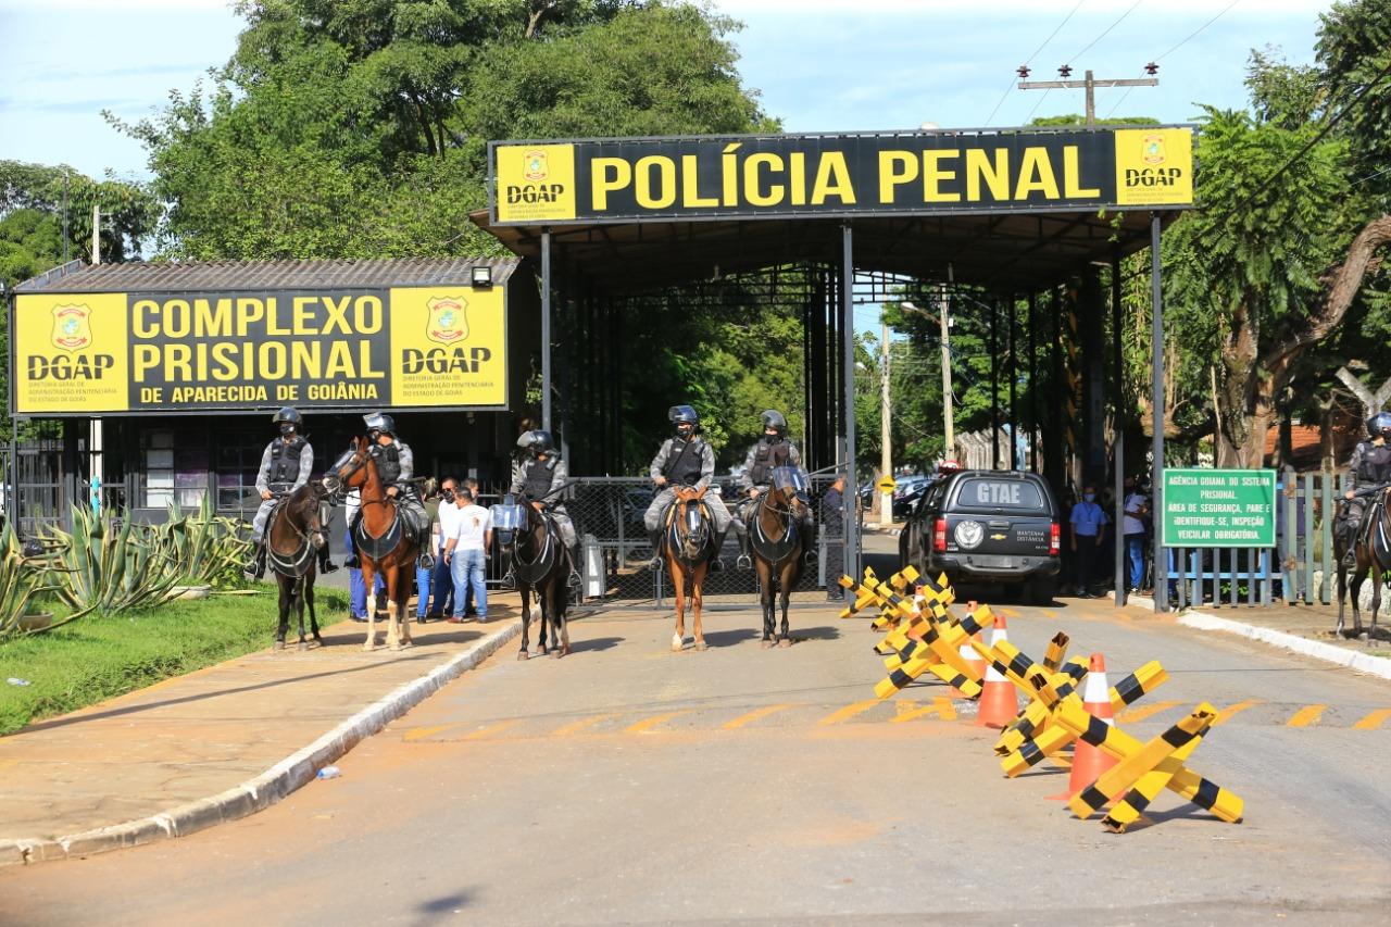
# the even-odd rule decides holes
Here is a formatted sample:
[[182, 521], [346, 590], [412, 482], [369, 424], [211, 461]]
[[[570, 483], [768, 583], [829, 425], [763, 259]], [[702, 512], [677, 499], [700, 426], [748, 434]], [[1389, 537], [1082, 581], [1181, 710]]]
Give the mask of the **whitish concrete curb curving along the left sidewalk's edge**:
[[445, 683], [477, 667], [520, 632], [520, 618], [504, 628], [498, 628], [497, 632], [459, 653], [448, 663], [435, 667], [419, 679], [398, 686], [389, 695], [346, 718], [332, 731], [324, 734], [309, 746], [289, 754], [260, 775], [218, 795], [188, 802], [150, 817], [82, 831], [81, 834], [70, 834], [56, 839], [42, 837], [0, 839], [0, 867], [17, 864], [32, 866], [35, 863], [90, 856], [92, 853], [104, 853], [127, 846], [186, 837], [214, 824], [235, 821], [239, 817], [255, 814], [313, 779], [319, 774], [319, 770], [424, 702]]

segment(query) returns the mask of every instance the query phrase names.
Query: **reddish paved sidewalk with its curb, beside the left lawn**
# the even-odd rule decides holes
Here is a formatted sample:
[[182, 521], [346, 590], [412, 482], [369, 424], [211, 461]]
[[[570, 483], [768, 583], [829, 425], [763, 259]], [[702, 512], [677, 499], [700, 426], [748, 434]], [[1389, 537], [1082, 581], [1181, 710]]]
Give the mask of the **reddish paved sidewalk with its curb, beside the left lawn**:
[[[181, 837], [278, 802], [520, 631], [412, 622], [416, 646], [363, 653], [366, 624], [323, 649], [262, 650], [0, 739], [0, 866]], [[267, 612], [267, 643], [274, 615]], [[385, 622], [377, 624], [378, 642]]]

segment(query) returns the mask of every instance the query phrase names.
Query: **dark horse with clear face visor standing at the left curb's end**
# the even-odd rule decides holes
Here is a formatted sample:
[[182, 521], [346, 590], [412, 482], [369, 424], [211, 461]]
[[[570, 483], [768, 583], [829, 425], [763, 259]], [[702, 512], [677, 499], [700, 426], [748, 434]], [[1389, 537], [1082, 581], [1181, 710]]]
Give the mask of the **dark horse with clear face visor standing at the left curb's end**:
[[515, 502], [504, 501], [492, 507], [494, 543], [508, 554], [512, 576], [522, 593], [522, 650], [517, 660], [531, 657], [531, 594], [541, 607], [541, 629], [537, 633], [538, 657], [547, 654], [547, 625], [551, 628], [549, 654], [561, 658], [570, 653], [570, 629], [565, 624], [569, 607], [568, 580], [570, 551], [561, 541], [561, 532], [540, 504], [524, 494]]

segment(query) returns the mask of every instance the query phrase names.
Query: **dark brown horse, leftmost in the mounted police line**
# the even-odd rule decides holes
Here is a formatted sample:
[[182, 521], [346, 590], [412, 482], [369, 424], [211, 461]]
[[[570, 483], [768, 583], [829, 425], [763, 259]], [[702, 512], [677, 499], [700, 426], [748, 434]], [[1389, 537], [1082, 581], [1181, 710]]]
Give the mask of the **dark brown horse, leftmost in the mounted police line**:
[[289, 611], [299, 617], [299, 649], [309, 650], [305, 640], [305, 605], [309, 605], [309, 626], [314, 640], [323, 646], [319, 636], [319, 618], [314, 617], [314, 566], [319, 551], [328, 539], [319, 518], [319, 505], [324, 490], [319, 483], [305, 483], [289, 493], [271, 509], [266, 526], [266, 562], [275, 573], [280, 586], [280, 625], [275, 628], [275, 650], [285, 649], [285, 632], [289, 629]]

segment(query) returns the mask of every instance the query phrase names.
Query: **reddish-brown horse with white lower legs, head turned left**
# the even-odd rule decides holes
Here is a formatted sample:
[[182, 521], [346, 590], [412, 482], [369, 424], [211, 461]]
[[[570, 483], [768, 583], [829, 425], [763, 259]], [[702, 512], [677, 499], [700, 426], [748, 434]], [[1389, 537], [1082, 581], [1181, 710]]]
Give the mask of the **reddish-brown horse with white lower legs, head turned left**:
[[[381, 572], [387, 583], [387, 649], [401, 650], [415, 646], [410, 640], [410, 610], [406, 608], [406, 601], [410, 599], [410, 579], [415, 576], [419, 550], [399, 507], [381, 484], [370, 447], [367, 438], [353, 438], [348, 452], [324, 476], [324, 487], [330, 491], [346, 487], [362, 493], [357, 523], [352, 533], [362, 582], [367, 589], [374, 589], [376, 575]], [[367, 653], [377, 649], [377, 610], [371, 605], [367, 607], [367, 639], [362, 649]]]

